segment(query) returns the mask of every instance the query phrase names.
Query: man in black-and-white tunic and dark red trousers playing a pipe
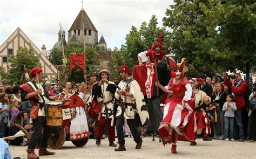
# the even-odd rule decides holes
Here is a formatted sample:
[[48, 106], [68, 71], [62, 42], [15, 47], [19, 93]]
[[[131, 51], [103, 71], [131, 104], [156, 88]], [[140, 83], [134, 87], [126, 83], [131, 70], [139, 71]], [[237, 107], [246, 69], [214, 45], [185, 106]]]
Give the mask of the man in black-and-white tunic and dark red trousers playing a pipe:
[[102, 139], [103, 130], [106, 120], [108, 122], [109, 131], [109, 146], [116, 147], [114, 143], [114, 115], [113, 115], [113, 94], [116, 92], [117, 86], [114, 82], [109, 81], [110, 71], [104, 67], [99, 71], [100, 81], [96, 82], [92, 87], [92, 96], [95, 97], [95, 106], [98, 107], [98, 114], [96, 120], [98, 120], [98, 136], [96, 140], [97, 146], [100, 146], [100, 139]]

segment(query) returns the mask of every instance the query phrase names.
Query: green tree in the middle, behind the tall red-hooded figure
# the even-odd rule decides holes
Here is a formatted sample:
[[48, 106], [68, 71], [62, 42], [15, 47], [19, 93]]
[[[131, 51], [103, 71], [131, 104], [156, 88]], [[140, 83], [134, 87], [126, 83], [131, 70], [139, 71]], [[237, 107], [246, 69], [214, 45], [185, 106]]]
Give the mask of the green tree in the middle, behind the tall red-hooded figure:
[[[165, 35], [169, 34], [165, 27], [160, 28], [157, 25], [157, 18], [153, 15], [149, 24], [143, 22], [139, 30], [137, 27], [131, 26], [130, 32], [126, 34], [125, 44], [120, 47], [120, 50], [115, 48], [111, 53], [112, 64], [116, 70], [119, 70], [122, 65], [127, 65], [132, 70], [134, 65], [138, 65], [138, 53], [151, 49], [160, 31]], [[168, 49], [169, 47], [164, 47], [164, 51], [168, 51]], [[118, 71], [115, 75], [118, 76]]]

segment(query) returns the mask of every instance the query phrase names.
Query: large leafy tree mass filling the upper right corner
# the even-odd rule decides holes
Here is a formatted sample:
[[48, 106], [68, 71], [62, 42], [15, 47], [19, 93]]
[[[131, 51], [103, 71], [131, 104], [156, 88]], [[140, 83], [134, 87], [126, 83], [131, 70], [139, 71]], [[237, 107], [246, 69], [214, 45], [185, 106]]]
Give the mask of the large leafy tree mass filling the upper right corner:
[[[174, 1], [164, 25], [171, 28], [171, 52], [185, 57], [188, 74], [250, 70], [255, 62], [255, 3]], [[228, 62], [228, 64], [227, 64]], [[248, 72], [249, 71], [245, 71]]]

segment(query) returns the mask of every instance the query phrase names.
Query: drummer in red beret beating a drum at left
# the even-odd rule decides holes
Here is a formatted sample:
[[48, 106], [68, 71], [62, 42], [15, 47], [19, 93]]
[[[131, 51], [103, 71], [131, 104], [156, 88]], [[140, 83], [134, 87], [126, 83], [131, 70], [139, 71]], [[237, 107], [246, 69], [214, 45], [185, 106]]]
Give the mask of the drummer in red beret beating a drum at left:
[[[21, 86], [21, 99], [22, 101], [30, 101], [30, 105], [32, 106], [30, 117], [35, 128], [35, 132], [31, 136], [28, 149], [26, 151], [28, 152], [28, 158], [39, 158], [39, 156], [55, 154], [46, 150], [46, 147], [48, 146], [47, 141], [49, 139], [50, 129], [49, 127], [45, 126], [44, 103], [48, 102], [50, 99], [56, 100], [59, 95], [49, 96], [45, 86], [41, 82], [39, 83], [39, 81], [43, 80], [44, 78], [42, 68], [33, 68], [29, 72], [29, 75], [32, 80]], [[35, 154], [37, 144], [39, 144], [39, 156]]]

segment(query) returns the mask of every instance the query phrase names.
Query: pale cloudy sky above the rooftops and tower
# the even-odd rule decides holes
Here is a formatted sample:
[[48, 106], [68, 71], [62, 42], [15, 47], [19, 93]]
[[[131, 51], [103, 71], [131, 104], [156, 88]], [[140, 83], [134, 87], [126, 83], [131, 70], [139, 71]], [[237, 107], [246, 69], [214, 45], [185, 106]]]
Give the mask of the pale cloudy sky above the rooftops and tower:
[[[139, 28], [152, 15], [161, 27], [171, 4], [173, 0], [83, 0], [99, 38], [103, 34], [111, 49], [119, 49], [131, 26]], [[40, 50], [43, 44], [51, 50], [58, 41], [59, 23], [67, 34], [81, 9], [82, 0], [0, 0], [0, 45], [20, 27]]]

